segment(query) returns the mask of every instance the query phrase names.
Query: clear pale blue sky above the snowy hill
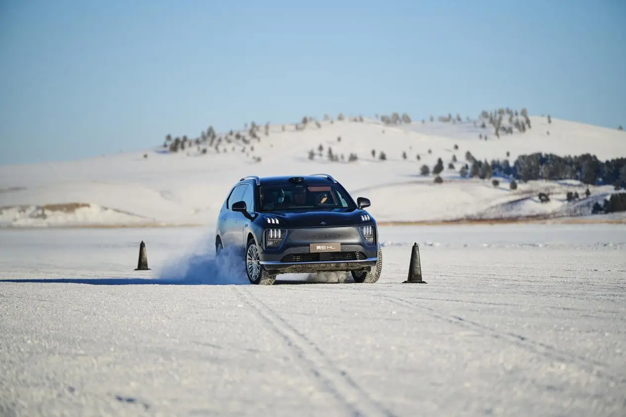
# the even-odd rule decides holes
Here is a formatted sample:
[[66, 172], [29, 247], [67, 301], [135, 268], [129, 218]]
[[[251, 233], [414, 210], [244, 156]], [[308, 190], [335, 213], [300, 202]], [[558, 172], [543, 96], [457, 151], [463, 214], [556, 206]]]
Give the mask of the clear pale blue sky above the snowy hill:
[[626, 2], [4, 1], [0, 163], [324, 113], [626, 125]]

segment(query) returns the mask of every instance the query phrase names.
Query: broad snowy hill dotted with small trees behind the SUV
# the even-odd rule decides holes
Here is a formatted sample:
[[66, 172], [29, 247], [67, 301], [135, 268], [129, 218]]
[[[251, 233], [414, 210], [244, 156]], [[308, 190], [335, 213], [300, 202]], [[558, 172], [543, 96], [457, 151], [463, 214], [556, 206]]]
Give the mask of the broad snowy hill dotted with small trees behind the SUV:
[[[511, 165], [519, 155], [536, 152], [590, 153], [600, 161], [626, 156], [623, 131], [560, 119], [548, 123], [541, 116], [530, 116], [531, 128], [511, 129], [512, 134], [505, 133], [512, 125], [503, 121], [500, 138], [490, 124], [481, 127], [482, 118], [391, 125], [361, 120], [269, 124], [267, 135], [265, 126], [255, 130], [257, 138], [246, 126], [216, 133], [212, 143], [203, 134], [177, 152], [169, 151], [173, 139], [131, 153], [0, 166], [0, 226], [212, 225], [228, 189], [243, 176], [311, 173], [331, 174], [354, 198], [370, 198], [369, 210], [379, 222], [589, 218], [593, 204], [615, 192], [612, 185], [538, 180], [517, 181], [511, 189], [508, 178], [497, 178], [499, 184], [462, 178], [459, 170], [471, 165], [466, 154], [478, 161], [508, 159]], [[357, 159], [349, 161], [351, 154]], [[443, 183], [436, 184], [432, 173], [421, 175], [420, 169], [426, 164], [433, 171], [439, 158]], [[567, 201], [568, 191], [580, 199]], [[540, 192], [550, 201], [541, 203]]]

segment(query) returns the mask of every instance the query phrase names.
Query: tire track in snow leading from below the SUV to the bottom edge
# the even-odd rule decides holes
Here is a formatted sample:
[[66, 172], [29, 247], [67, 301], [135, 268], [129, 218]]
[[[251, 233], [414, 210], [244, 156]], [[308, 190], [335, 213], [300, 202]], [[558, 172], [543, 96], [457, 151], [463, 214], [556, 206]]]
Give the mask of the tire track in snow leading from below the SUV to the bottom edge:
[[337, 367], [307, 336], [287, 323], [280, 314], [269, 308], [250, 289], [237, 288], [244, 302], [259, 313], [267, 326], [284, 339], [295, 356], [307, 364], [310, 373], [349, 410], [352, 416], [396, 417], [392, 411], [377, 403], [354, 379]]

